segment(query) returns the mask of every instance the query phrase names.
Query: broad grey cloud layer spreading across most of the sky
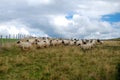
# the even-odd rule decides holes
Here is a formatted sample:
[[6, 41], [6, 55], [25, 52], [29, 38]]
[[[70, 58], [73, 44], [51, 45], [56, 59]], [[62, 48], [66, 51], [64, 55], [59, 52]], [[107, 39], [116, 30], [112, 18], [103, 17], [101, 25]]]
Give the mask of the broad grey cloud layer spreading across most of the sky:
[[[103, 1], [108, 6], [103, 6], [99, 4], [99, 1], [95, 0], [52, 1], [52, 3], [47, 5], [30, 5], [28, 3], [29, 0], [2, 0], [0, 1], [0, 23], [9, 22], [11, 20], [20, 21], [21, 24], [28, 27], [30, 33], [37, 32], [39, 34], [43, 32], [51, 37], [84, 38], [85, 36], [88, 37], [90, 33], [96, 32], [100, 32], [101, 37], [103, 37], [104, 35], [109, 35], [112, 32], [111, 30], [116, 32], [116, 28], [111, 27], [116, 25], [109, 25], [109, 29], [107, 29], [99, 19], [101, 15], [119, 12], [119, 0], [99, 0]], [[110, 6], [112, 4], [113, 7]], [[108, 10], [109, 6], [110, 9]], [[54, 17], [57, 15], [67, 15], [70, 11], [83, 16], [73, 20], [77, 25], [70, 24], [66, 29], [61, 28], [61, 31], [57, 30], [55, 25], [50, 24], [50, 15], [54, 15]], [[119, 32], [117, 31], [112, 36], [115, 36], [115, 34], [117, 35]]]

